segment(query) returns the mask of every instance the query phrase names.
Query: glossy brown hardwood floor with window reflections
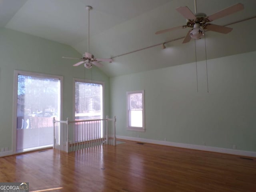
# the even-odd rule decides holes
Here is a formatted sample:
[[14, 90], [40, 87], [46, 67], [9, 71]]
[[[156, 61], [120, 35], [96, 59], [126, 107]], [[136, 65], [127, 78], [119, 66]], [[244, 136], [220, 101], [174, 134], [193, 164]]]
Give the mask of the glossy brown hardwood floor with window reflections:
[[256, 159], [126, 141], [3, 157], [0, 182], [37, 192], [256, 192]]

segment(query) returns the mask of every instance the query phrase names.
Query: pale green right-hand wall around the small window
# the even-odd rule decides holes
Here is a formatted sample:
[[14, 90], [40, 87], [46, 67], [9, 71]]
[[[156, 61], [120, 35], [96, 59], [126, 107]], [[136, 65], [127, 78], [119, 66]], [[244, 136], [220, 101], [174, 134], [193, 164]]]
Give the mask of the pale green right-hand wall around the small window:
[[[116, 134], [256, 151], [256, 52], [110, 78]], [[144, 90], [145, 132], [126, 130], [126, 91]], [[209, 90], [209, 92], [208, 92]]]

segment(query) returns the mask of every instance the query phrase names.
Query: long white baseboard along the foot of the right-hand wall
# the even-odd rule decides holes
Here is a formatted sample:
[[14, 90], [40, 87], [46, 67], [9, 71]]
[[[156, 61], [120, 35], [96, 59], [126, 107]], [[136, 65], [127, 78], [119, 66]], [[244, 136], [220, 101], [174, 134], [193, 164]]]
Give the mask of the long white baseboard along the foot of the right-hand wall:
[[218, 147], [201, 146], [201, 145], [194, 145], [194, 144], [176, 143], [176, 142], [169, 142], [169, 141], [159, 141], [159, 140], [120, 136], [120, 135], [117, 135], [116, 138], [137, 141], [137, 142], [158, 144], [158, 145], [166, 145], [166, 146], [172, 146], [172, 147], [188, 148], [188, 149], [210, 151], [210, 152], [217, 152], [217, 153], [226, 153], [226, 154], [248, 156], [248, 157], [256, 157], [256, 152], [253, 152], [253, 151], [242, 151], [242, 150], [234, 150], [234, 149], [227, 149], [227, 148], [218, 148]]

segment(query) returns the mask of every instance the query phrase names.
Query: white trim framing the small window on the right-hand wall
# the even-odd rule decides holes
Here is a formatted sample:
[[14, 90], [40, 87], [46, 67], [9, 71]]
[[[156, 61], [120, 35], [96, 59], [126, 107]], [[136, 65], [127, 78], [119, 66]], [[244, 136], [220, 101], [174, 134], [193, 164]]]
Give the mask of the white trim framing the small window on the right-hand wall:
[[[142, 127], [129, 126], [130, 114], [129, 114], [129, 94], [142, 93]], [[145, 104], [144, 104], [144, 90], [127, 91], [126, 92], [126, 130], [145, 132]]]

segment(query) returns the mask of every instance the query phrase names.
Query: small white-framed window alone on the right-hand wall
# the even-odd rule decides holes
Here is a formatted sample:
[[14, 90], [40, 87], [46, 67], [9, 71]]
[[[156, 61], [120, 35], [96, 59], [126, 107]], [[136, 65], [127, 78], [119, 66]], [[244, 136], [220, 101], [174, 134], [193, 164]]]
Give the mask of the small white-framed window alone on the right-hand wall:
[[144, 126], [144, 90], [126, 92], [127, 129], [145, 131]]

